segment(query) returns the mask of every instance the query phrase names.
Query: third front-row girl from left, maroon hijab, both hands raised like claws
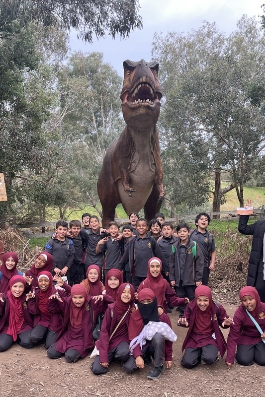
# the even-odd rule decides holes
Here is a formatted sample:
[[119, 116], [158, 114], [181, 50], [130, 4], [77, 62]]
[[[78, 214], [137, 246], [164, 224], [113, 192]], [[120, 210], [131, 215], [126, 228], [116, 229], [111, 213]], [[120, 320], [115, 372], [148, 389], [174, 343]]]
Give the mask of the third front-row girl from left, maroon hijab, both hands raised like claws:
[[113, 299], [107, 295], [91, 297], [82, 284], [73, 285], [71, 296], [63, 300], [58, 294], [50, 299], [57, 300], [64, 321], [57, 341], [47, 350], [48, 357], [56, 359], [65, 355], [69, 363], [85, 358], [94, 347], [90, 313], [95, 323], [99, 313], [104, 312]]

